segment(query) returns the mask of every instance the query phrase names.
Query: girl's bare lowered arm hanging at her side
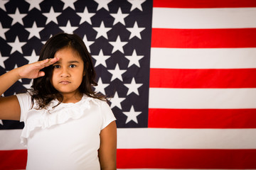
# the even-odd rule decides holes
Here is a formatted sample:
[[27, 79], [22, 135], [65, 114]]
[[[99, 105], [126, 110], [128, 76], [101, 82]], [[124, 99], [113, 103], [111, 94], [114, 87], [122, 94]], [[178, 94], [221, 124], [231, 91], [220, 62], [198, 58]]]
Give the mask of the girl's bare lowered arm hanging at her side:
[[99, 159], [102, 170], [117, 169], [117, 125], [115, 121], [100, 132]]

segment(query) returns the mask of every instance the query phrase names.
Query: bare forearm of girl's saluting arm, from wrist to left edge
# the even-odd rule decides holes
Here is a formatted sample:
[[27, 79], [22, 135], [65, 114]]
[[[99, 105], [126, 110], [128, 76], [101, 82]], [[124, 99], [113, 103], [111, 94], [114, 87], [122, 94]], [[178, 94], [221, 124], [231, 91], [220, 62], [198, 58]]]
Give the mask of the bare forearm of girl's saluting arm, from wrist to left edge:
[[10, 72], [0, 76], [0, 94], [4, 94], [18, 79], [21, 79], [18, 75], [18, 69], [12, 69]]

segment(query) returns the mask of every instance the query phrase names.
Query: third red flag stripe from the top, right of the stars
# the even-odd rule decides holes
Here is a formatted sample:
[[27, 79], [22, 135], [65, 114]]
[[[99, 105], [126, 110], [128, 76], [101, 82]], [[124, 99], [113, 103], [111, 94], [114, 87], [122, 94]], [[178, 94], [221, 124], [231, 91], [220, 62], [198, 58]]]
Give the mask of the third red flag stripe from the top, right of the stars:
[[151, 88], [255, 88], [256, 69], [150, 69]]

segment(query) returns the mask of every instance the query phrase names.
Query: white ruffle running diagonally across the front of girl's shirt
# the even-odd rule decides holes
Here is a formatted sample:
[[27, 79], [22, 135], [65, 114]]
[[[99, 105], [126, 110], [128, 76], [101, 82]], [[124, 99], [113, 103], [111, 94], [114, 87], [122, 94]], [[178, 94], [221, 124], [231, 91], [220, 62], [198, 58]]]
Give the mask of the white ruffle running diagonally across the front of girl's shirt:
[[100, 106], [99, 100], [86, 95], [82, 96], [77, 103], [60, 103], [59, 105], [58, 103], [59, 101], [55, 99], [45, 109], [36, 110], [33, 108], [28, 111], [28, 117], [24, 121], [25, 126], [21, 132], [23, 145], [27, 144], [28, 137], [36, 128], [46, 129], [53, 125], [65, 123], [70, 119], [79, 119], [86, 113], [85, 110], [91, 108], [92, 103]]

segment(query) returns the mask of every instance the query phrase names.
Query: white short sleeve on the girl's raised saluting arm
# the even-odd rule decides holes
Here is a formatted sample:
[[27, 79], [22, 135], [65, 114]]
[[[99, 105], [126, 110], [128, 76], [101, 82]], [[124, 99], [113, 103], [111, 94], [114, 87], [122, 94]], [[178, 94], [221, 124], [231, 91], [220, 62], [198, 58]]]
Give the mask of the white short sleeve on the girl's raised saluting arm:
[[24, 122], [26, 120], [26, 115], [31, 109], [32, 101], [31, 96], [29, 94], [16, 94], [18, 98], [18, 103], [21, 107], [21, 122]]

